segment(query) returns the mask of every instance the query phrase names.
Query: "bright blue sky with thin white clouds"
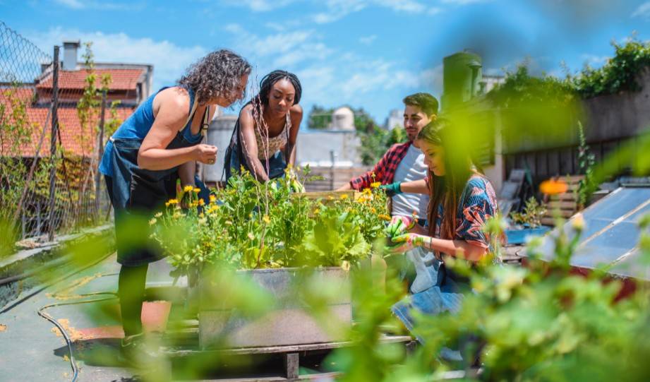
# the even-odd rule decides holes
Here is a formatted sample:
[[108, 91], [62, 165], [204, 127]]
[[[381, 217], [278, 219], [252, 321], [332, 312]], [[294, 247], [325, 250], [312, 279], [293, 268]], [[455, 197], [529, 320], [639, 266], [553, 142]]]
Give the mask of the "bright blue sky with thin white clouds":
[[92, 41], [96, 61], [153, 64], [155, 88], [232, 49], [253, 64], [253, 90], [284, 69], [301, 80], [306, 114], [349, 105], [379, 124], [405, 95], [439, 98], [443, 57], [464, 49], [483, 73], [525, 60], [563, 76], [603, 65], [613, 41], [650, 40], [644, 0], [0, 0], [0, 20], [48, 54]]

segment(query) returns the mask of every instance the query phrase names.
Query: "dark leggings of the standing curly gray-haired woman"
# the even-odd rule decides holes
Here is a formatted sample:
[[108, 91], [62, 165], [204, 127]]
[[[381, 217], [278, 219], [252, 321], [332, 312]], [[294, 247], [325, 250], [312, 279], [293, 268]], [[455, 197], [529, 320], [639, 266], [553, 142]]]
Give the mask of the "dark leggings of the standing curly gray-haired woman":
[[[113, 204], [113, 179], [104, 177], [106, 189]], [[122, 265], [119, 271], [118, 290], [124, 336], [142, 333], [142, 304], [149, 264]]]

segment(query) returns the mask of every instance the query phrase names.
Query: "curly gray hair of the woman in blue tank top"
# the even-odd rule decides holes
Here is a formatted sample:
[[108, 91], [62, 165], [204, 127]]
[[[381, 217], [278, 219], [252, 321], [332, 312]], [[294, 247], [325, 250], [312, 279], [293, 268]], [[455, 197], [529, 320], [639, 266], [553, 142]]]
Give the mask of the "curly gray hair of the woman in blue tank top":
[[[240, 85], [241, 76], [251, 73], [251, 64], [228, 49], [208, 54], [192, 64], [178, 85], [195, 92], [200, 104], [215, 97], [232, 99]], [[241, 98], [246, 97], [246, 90]]]

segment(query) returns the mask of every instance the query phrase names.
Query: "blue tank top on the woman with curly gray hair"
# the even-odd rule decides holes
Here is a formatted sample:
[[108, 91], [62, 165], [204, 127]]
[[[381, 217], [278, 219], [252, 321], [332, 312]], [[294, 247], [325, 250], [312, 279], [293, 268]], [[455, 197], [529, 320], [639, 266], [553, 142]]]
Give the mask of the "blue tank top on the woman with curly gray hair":
[[[158, 95], [159, 92], [162, 92], [162, 90], [165, 90], [167, 88], [170, 87], [165, 86], [164, 88], [161, 88], [155, 92], [155, 94], [150, 95], [150, 97], [147, 98], [145, 102], [141, 103], [140, 106], [138, 106], [138, 109], [136, 109], [136, 111], [131, 114], [131, 117], [128, 117], [128, 119], [126, 119], [126, 121], [124, 121], [119, 126], [115, 133], [113, 133], [113, 138], [144, 139], [145, 136], [147, 136], [149, 133], [155, 119], [153, 117], [153, 99], [156, 97], [156, 95]], [[194, 105], [194, 92], [193, 90], [188, 89], [188, 93], [190, 95], [190, 109], [188, 113], [190, 113]], [[201, 135], [200, 131], [196, 135], [193, 135], [191, 124], [192, 121], [189, 121], [188, 124], [183, 127], [183, 138], [185, 138], [188, 142], [197, 143], [201, 140], [201, 138], [203, 138], [203, 136]], [[113, 143], [109, 140], [106, 143], [106, 147], [104, 148], [102, 162], [100, 162], [100, 172], [107, 177], [113, 176], [113, 161], [111, 160], [112, 155]]]

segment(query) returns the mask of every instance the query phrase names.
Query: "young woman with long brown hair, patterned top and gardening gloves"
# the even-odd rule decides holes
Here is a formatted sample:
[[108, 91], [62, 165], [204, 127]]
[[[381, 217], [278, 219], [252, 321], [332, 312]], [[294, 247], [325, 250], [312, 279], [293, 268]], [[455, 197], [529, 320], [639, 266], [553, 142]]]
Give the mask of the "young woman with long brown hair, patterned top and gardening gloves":
[[[430, 251], [424, 259], [433, 287], [411, 294], [392, 307], [393, 313], [409, 330], [414, 327], [413, 310], [423, 314], [458, 311], [463, 292], [470, 290], [468, 280], [445, 268], [445, 256], [481, 261], [487, 255], [490, 237], [483, 232], [486, 220], [498, 213], [495, 192], [490, 181], [473, 165], [467, 145], [453, 136], [458, 129], [438, 119], [420, 131], [417, 142], [428, 167], [428, 226], [417, 225], [392, 240], [393, 253], [415, 247]], [[408, 227], [409, 224], [400, 225]], [[421, 338], [419, 338], [421, 340]], [[451, 356], [454, 357], [454, 356]], [[458, 357], [458, 356], [456, 356]]]

